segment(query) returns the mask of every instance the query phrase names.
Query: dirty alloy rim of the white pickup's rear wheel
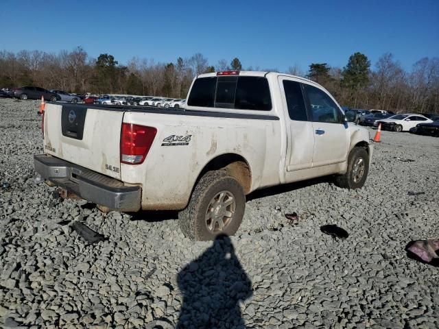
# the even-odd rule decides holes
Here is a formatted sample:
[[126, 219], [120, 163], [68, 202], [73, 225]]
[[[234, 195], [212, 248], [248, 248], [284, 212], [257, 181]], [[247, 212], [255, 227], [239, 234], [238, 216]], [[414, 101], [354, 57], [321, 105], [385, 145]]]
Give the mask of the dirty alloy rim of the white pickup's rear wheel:
[[217, 193], [209, 202], [206, 210], [205, 223], [209, 232], [223, 232], [233, 221], [236, 211], [235, 196], [230, 191]]

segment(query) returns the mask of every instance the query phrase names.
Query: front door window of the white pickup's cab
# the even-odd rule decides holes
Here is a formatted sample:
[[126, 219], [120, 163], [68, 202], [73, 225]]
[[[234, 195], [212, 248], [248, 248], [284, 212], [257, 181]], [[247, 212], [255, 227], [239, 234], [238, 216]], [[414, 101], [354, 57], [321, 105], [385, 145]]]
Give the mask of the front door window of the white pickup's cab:
[[305, 84], [312, 121], [342, 123], [342, 115], [335, 102], [323, 90]]

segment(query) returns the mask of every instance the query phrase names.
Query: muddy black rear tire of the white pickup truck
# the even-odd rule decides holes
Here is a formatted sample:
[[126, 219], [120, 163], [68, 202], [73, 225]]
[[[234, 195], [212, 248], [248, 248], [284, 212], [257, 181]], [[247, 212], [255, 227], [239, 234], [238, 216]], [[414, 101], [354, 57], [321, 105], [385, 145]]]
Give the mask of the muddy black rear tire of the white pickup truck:
[[[225, 214], [222, 215], [221, 212], [221, 215], [218, 215], [222, 217], [221, 221], [224, 224], [222, 230], [219, 229], [219, 224], [217, 226], [217, 222], [213, 219], [210, 219], [210, 223], [209, 220], [206, 220], [208, 209], [211, 208], [215, 197], [221, 193], [226, 193], [228, 201], [230, 201], [231, 195], [232, 202], [234, 202], [230, 205], [231, 208], [224, 208], [226, 212], [231, 212], [230, 217]], [[222, 201], [221, 197], [218, 198], [218, 202], [220, 201]], [[219, 234], [233, 235], [241, 225], [245, 208], [246, 195], [241, 184], [235, 178], [227, 175], [225, 171], [209, 171], [195, 186], [187, 208], [178, 214], [180, 230], [187, 238], [196, 241], [214, 240]], [[215, 210], [213, 207], [210, 212], [214, 216]], [[226, 218], [225, 223], [224, 218]], [[209, 230], [209, 225], [212, 226], [213, 230]]]

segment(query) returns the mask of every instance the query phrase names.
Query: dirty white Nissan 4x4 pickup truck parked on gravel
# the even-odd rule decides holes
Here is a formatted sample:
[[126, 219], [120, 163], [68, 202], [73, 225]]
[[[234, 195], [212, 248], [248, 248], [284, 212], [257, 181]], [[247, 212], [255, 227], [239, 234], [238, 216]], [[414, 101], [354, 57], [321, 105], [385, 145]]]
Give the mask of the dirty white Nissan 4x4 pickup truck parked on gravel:
[[360, 188], [372, 156], [327, 90], [274, 72], [199, 75], [185, 110], [48, 103], [42, 127], [34, 166], [51, 184], [113, 210], [180, 210], [195, 240], [235, 234], [258, 188]]

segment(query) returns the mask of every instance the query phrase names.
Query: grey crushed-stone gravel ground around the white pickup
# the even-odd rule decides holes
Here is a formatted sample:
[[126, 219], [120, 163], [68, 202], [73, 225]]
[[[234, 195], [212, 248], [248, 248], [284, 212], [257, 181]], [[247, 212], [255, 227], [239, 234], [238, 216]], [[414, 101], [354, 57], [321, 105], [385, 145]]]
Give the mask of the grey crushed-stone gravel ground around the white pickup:
[[[439, 269], [404, 251], [439, 237], [439, 138], [382, 132], [361, 190], [258, 191], [237, 236], [193, 243], [174, 213], [105, 215], [35, 184], [37, 110], [0, 99], [3, 328], [439, 328]], [[106, 241], [86, 244], [73, 221]]]

